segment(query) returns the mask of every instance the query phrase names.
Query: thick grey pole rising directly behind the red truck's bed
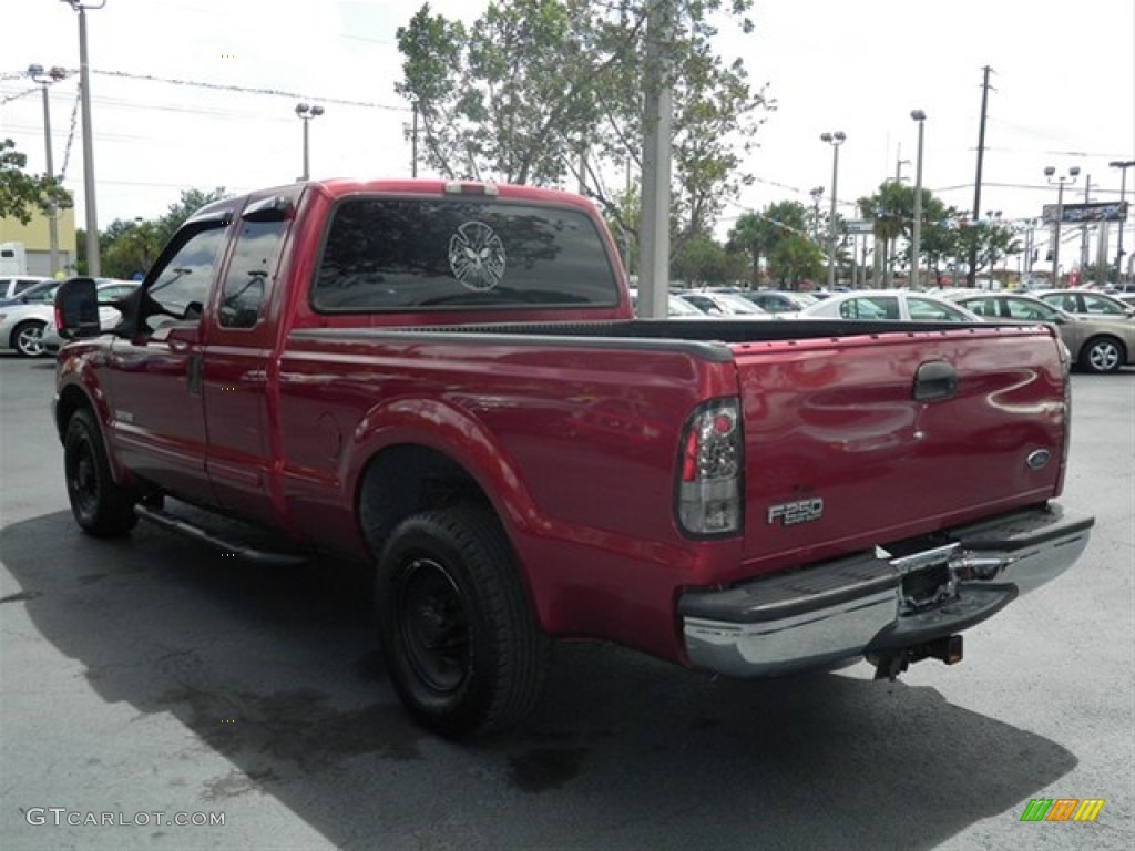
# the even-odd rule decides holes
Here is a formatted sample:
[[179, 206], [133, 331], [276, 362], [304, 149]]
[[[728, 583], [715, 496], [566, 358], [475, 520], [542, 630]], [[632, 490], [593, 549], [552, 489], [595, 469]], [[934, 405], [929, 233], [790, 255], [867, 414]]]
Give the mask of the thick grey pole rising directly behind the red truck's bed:
[[670, 145], [673, 99], [666, 56], [672, 0], [649, 6], [642, 115], [642, 216], [639, 224], [639, 315], [664, 319], [670, 298]]

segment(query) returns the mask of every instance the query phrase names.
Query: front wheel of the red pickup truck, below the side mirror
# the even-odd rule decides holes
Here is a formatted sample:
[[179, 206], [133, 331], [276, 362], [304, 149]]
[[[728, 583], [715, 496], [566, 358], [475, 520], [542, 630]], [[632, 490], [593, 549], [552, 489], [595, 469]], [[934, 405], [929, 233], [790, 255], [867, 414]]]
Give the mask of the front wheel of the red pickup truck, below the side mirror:
[[112, 538], [135, 526], [137, 495], [111, 477], [102, 432], [89, 408], [76, 411], [67, 423], [64, 474], [72, 514], [84, 532]]

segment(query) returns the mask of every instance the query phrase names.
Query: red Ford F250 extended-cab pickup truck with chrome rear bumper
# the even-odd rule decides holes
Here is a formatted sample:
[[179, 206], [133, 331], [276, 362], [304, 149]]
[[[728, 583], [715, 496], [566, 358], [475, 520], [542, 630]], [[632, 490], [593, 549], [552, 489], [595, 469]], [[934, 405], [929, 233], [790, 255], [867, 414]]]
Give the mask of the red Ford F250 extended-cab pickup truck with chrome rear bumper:
[[637, 320], [562, 192], [257, 192], [187, 221], [111, 334], [90, 279], [56, 306], [78, 525], [369, 565], [392, 681], [449, 736], [523, 718], [554, 640], [740, 677], [952, 663], [1093, 523], [1051, 502], [1052, 328]]

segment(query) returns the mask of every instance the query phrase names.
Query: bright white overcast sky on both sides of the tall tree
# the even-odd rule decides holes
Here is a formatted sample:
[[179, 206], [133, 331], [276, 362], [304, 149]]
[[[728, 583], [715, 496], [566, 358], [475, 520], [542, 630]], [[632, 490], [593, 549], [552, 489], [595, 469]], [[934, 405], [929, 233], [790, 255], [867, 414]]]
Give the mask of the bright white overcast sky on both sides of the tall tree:
[[[30, 64], [78, 67], [78, 16], [58, 0], [9, 3], [18, 12], [5, 25], [0, 54], [0, 135], [28, 154], [31, 170], [42, 171], [42, 102], [37, 92], [22, 96], [30, 89], [23, 75]], [[313, 177], [407, 175], [410, 112], [394, 93], [401, 78], [395, 31], [420, 6], [107, 0], [89, 11], [100, 226], [159, 216], [183, 188], [238, 192], [295, 179], [302, 167], [296, 95], [326, 109], [310, 127]], [[486, 3], [430, 6], [472, 19]], [[1091, 200], [1119, 197], [1119, 170], [1108, 163], [1135, 159], [1133, 0], [757, 0], [754, 18], [751, 35], [726, 27], [718, 50], [743, 58], [753, 82], [767, 82], [779, 106], [747, 163], [758, 183], [726, 217], [785, 199], [810, 203], [816, 186], [825, 187], [826, 205], [832, 150], [819, 141], [825, 130], [847, 134], [841, 202], [874, 192], [900, 159], [911, 161], [901, 175], [913, 182], [913, 109], [927, 116], [924, 185], [972, 209], [986, 65], [993, 90], [982, 210], [1039, 216], [1057, 194], [1045, 166], [1061, 174], [1081, 168], [1066, 203], [1083, 201], [1088, 177]], [[77, 75], [52, 86], [50, 103], [56, 169], [66, 160], [82, 222], [82, 142], [72, 133], [76, 82]], [[1135, 169], [1128, 171], [1132, 196]], [[855, 214], [842, 203], [840, 211]], [[1133, 242], [1126, 247], [1135, 248]]]

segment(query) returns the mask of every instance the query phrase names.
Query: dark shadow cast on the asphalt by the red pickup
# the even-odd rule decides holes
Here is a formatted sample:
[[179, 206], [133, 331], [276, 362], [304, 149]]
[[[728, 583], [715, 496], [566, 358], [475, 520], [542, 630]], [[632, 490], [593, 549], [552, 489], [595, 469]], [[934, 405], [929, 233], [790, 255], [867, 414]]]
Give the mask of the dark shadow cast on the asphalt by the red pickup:
[[[932, 849], [1076, 765], [930, 688], [714, 680], [589, 644], [558, 649], [523, 728], [457, 745], [403, 714], [356, 568], [234, 564], [148, 528], [98, 541], [66, 513], [7, 526], [0, 551], [23, 589], [0, 604], [99, 698], [194, 734], [140, 757], [144, 783], [233, 812], [272, 795], [336, 846]], [[186, 786], [210, 750], [232, 770]]]

